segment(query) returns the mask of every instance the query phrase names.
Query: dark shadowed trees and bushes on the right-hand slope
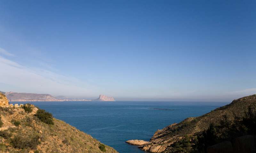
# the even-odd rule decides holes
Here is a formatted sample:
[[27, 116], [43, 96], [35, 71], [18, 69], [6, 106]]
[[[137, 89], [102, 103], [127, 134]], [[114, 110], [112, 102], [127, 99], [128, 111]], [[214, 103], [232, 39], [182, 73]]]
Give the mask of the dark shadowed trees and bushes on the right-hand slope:
[[207, 148], [223, 141], [234, 140], [234, 138], [244, 135], [256, 135], [256, 109], [249, 106], [244, 117], [234, 114], [234, 120], [224, 116], [220, 125], [210, 124], [209, 128], [195, 139], [194, 150], [199, 153], [206, 153]]

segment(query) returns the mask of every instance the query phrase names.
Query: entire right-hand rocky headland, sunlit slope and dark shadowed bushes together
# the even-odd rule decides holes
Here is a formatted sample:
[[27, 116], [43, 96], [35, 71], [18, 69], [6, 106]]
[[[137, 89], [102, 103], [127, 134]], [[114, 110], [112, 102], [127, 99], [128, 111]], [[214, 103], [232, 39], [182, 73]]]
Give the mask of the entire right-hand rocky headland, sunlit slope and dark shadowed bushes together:
[[[250, 110], [254, 110], [254, 112]], [[212, 124], [214, 126], [211, 127]], [[202, 116], [190, 117], [180, 123], [173, 123], [157, 130], [149, 143], [140, 145], [139, 148], [155, 153], [193, 152], [195, 151], [194, 146], [200, 146], [200, 143], [207, 142], [202, 140], [206, 139], [207, 131], [212, 130], [212, 133], [215, 134], [213, 136], [216, 137], [216, 140], [212, 142], [216, 144], [209, 143], [208, 145], [215, 145], [209, 146], [207, 149], [204, 149], [205, 146], [203, 146], [202, 148], [207, 150], [205, 152], [225, 152], [225, 149], [226, 152], [228, 152], [228, 149], [229, 152], [232, 150], [231, 153], [246, 153], [248, 150], [249, 152], [256, 152], [254, 141], [256, 131], [253, 132], [255, 129], [253, 127], [256, 127], [255, 124], [256, 95], [246, 96]], [[244, 130], [237, 130], [243, 128]], [[202, 139], [201, 142], [199, 140], [199, 143], [198, 138]], [[228, 142], [225, 142], [225, 140]], [[219, 142], [223, 144], [219, 144]], [[130, 144], [137, 145], [137, 143]], [[224, 146], [228, 146], [228, 149]]]

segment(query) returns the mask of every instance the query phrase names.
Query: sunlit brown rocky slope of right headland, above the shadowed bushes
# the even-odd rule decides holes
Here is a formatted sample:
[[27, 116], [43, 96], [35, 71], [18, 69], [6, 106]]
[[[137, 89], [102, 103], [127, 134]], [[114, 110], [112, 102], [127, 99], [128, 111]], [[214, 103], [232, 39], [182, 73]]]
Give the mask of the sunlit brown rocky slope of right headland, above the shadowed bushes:
[[181, 142], [185, 136], [193, 136], [206, 130], [211, 123], [219, 125], [223, 118], [234, 119], [234, 115], [241, 117], [249, 106], [256, 108], [256, 95], [246, 96], [234, 100], [232, 103], [217, 108], [207, 114], [195, 118], [188, 118], [180, 123], [174, 123], [164, 129], [157, 130], [150, 142], [139, 148], [149, 152], [175, 152], [173, 143]]

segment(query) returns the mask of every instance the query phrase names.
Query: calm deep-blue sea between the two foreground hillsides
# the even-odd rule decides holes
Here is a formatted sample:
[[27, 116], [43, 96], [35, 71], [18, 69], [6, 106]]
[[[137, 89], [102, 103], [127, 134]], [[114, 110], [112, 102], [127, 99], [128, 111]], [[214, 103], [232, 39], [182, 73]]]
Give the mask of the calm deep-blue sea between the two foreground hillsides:
[[[15, 103], [15, 102], [13, 102]], [[23, 102], [16, 102], [23, 103]], [[145, 153], [125, 141], [149, 141], [157, 129], [205, 114], [227, 103], [30, 102], [120, 153]], [[149, 108], [160, 108], [149, 109]]]

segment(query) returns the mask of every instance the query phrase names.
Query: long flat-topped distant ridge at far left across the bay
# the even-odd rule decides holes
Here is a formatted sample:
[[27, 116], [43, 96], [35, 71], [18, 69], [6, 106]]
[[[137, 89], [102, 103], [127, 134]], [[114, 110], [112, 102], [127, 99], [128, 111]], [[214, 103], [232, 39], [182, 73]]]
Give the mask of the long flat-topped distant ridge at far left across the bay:
[[49, 94], [6, 92], [5, 96], [10, 102], [62, 101]]

